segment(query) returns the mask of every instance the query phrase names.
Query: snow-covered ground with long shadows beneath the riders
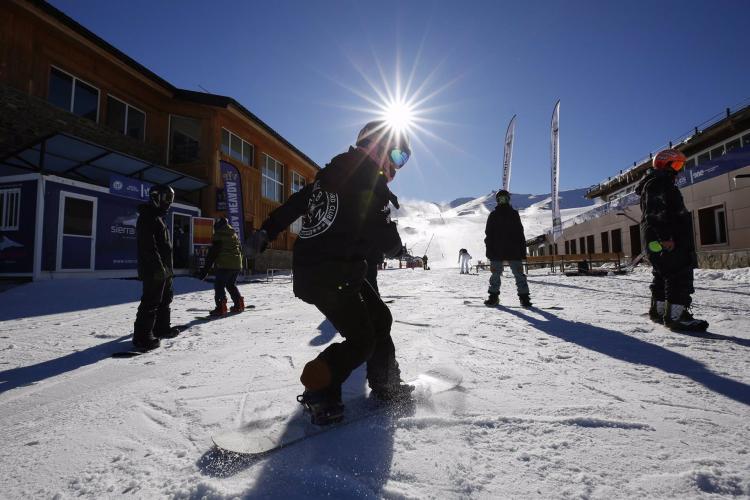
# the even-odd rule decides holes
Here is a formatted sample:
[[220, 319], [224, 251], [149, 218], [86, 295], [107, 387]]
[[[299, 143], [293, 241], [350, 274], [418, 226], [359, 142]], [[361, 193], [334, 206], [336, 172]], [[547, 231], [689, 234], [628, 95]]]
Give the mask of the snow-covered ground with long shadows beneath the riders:
[[[505, 306], [484, 307], [486, 272], [381, 272], [404, 376], [447, 365], [460, 389], [223, 461], [210, 436], [294, 407], [302, 366], [336, 340], [290, 283], [244, 284], [254, 311], [201, 322], [212, 292], [179, 278], [173, 322], [190, 328], [132, 359], [110, 354], [127, 346], [138, 282], [13, 288], [0, 293], [0, 497], [750, 496], [750, 269], [697, 271], [710, 339], [648, 320], [649, 277], [532, 271], [540, 308], [525, 310], [512, 279]], [[347, 388], [364, 390], [361, 371]]]

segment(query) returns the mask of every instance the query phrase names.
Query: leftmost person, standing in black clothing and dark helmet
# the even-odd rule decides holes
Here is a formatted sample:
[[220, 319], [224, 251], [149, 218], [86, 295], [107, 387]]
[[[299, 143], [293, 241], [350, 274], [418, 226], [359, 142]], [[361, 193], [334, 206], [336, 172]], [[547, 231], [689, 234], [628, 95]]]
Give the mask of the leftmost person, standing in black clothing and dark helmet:
[[159, 347], [159, 339], [174, 338], [178, 328], [170, 326], [172, 288], [172, 242], [164, 216], [174, 201], [169, 186], [154, 185], [148, 191], [148, 203], [138, 206], [135, 226], [138, 245], [138, 279], [143, 294], [133, 325], [133, 348], [146, 352]]

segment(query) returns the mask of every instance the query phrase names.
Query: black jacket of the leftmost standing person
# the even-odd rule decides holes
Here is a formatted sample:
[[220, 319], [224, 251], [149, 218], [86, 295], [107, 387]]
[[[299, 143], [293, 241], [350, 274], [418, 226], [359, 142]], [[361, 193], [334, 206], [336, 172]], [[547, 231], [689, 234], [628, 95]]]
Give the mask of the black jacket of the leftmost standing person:
[[150, 203], [138, 206], [135, 226], [138, 242], [138, 279], [149, 280], [174, 274], [172, 268], [172, 242], [169, 228], [164, 222], [165, 212]]

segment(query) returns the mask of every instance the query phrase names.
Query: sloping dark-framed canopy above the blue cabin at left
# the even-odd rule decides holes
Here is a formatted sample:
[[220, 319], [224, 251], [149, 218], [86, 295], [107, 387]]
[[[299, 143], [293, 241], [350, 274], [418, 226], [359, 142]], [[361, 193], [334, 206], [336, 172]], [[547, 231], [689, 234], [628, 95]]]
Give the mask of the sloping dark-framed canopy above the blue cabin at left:
[[109, 185], [112, 174], [191, 192], [208, 184], [166, 167], [67, 134], [55, 134], [0, 161], [0, 176], [29, 171]]

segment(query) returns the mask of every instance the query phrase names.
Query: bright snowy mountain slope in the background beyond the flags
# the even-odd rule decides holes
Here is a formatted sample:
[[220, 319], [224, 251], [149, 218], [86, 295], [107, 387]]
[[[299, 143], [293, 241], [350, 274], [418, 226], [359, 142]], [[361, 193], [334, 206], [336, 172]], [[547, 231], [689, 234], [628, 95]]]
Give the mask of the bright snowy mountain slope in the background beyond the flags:
[[[549, 197], [539, 198], [536, 203], [519, 210], [527, 239], [551, 227], [550, 201]], [[513, 203], [515, 206], [515, 196]], [[403, 200], [401, 208], [394, 210], [392, 216], [398, 220], [401, 239], [413, 255], [422, 256], [426, 252], [431, 267], [456, 267], [461, 248], [469, 251], [473, 262], [487, 260], [484, 229], [487, 216], [495, 205], [494, 193], [445, 211], [434, 203]], [[581, 206], [560, 212], [562, 219], [567, 220], [590, 208]]]

